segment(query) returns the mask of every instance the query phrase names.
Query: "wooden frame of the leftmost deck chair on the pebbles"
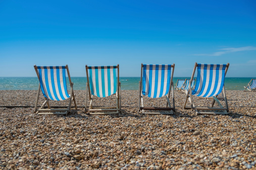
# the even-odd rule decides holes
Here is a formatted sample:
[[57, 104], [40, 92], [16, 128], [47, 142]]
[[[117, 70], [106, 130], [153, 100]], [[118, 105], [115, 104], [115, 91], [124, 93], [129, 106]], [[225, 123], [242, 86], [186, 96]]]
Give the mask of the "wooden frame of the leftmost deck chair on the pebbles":
[[[73, 91], [73, 84], [74, 83], [71, 81], [68, 65], [65, 66], [65, 68], [67, 70], [67, 73], [68, 73], [70, 88], [71, 88], [71, 95], [70, 95], [70, 99], [69, 99], [68, 108], [67, 109], [52, 109], [52, 108], [50, 108], [50, 105], [49, 105], [49, 99], [44, 97], [45, 101], [43, 102], [42, 106], [39, 109], [37, 109], [38, 98], [39, 98], [39, 94], [40, 94], [40, 91], [41, 91], [41, 87], [40, 87], [40, 78], [39, 78], [39, 72], [38, 72], [37, 66], [34, 65], [34, 68], [35, 68], [35, 72], [36, 72], [38, 80], [39, 80], [37, 97], [36, 97], [36, 100], [35, 100], [34, 113], [36, 113], [38, 115], [66, 115], [67, 116], [68, 113], [71, 112], [71, 104], [72, 104], [73, 101], [74, 101], [74, 104], [75, 104], [75, 109], [77, 110], [76, 100], [75, 100], [76, 94], [74, 94], [74, 91]], [[47, 104], [48, 108], [44, 109], [46, 104]]]

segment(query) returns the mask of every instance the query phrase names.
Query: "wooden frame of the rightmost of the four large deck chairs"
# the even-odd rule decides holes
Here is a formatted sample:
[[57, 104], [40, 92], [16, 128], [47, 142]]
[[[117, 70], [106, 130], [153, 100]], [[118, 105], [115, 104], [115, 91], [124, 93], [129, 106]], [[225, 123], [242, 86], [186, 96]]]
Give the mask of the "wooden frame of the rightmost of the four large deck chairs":
[[[193, 79], [193, 77], [194, 77], [197, 65], [198, 64], [195, 63], [191, 79]], [[228, 71], [228, 67], [229, 67], [229, 63], [227, 63], [227, 66], [226, 66], [226, 69], [225, 69], [225, 76], [226, 76], [226, 73]], [[193, 100], [192, 100], [191, 79], [189, 80], [189, 90], [185, 92], [186, 93], [186, 100], [185, 100], [185, 103], [184, 103], [184, 106], [183, 106], [184, 109], [194, 110], [196, 115], [228, 114], [229, 108], [228, 108], [228, 101], [227, 101], [227, 97], [226, 97], [225, 84], [223, 85], [222, 97], [221, 98], [218, 98], [218, 95], [214, 96], [212, 98], [207, 98], [207, 99], [212, 99], [213, 100], [213, 102], [211, 104], [211, 107], [195, 107], [195, 105], [193, 104]], [[205, 98], [203, 98], [203, 99], [205, 99]], [[189, 102], [190, 102], [190, 107], [186, 107], [187, 100], [189, 100]], [[219, 100], [224, 100], [226, 106], [223, 107]], [[213, 107], [215, 102], [219, 105], [220, 108]], [[222, 112], [199, 112], [200, 110], [222, 111]]]

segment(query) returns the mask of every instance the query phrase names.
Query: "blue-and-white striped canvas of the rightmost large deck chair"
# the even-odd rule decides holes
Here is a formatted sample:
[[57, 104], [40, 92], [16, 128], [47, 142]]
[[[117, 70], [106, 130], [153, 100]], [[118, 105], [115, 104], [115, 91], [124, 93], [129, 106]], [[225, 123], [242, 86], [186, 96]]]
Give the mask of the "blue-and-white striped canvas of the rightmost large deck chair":
[[205, 98], [219, 95], [224, 86], [225, 69], [226, 64], [198, 64], [192, 95]]

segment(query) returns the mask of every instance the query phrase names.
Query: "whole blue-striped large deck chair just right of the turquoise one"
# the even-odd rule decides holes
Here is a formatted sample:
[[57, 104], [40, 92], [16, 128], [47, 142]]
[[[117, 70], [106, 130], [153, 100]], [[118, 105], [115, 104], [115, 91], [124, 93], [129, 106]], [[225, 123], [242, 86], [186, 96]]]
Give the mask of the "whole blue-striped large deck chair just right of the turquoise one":
[[[141, 64], [141, 75], [139, 81], [139, 111], [142, 110], [142, 114], [173, 114], [175, 111], [174, 104], [174, 86], [173, 86], [173, 72], [174, 66], [170, 64], [157, 65], [157, 64]], [[171, 68], [173, 70], [171, 71]], [[172, 101], [173, 107], [170, 103], [170, 92], [172, 90]], [[166, 108], [158, 107], [144, 107], [143, 97], [147, 96], [149, 98], [160, 98], [166, 96], [167, 104]], [[168, 107], [169, 106], [169, 107]], [[162, 110], [171, 111], [169, 113], [161, 112], [144, 112], [144, 110]]]

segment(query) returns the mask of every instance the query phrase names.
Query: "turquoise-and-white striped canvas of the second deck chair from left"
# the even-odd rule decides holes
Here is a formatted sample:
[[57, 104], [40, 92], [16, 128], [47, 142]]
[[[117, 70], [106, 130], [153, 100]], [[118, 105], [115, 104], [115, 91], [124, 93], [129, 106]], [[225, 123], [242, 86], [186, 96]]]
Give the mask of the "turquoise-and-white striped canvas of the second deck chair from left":
[[91, 95], [104, 98], [117, 92], [117, 66], [88, 66]]

